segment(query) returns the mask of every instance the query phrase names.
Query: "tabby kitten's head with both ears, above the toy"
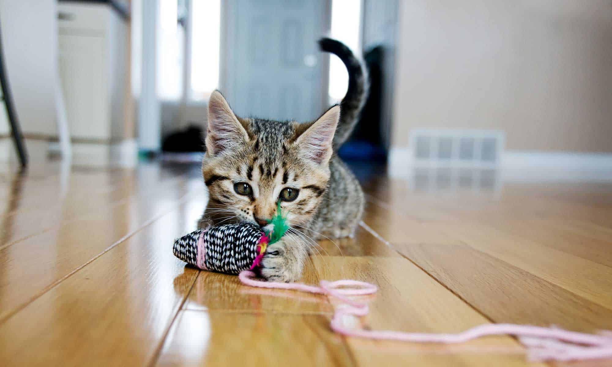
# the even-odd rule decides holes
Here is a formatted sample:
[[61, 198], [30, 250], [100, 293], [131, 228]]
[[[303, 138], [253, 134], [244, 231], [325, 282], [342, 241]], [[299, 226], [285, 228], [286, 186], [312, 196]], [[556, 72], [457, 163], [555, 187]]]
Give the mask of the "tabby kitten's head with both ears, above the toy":
[[313, 217], [329, 181], [336, 106], [310, 124], [238, 119], [222, 95], [209, 103], [202, 172], [215, 224], [264, 225], [277, 211], [294, 226]]

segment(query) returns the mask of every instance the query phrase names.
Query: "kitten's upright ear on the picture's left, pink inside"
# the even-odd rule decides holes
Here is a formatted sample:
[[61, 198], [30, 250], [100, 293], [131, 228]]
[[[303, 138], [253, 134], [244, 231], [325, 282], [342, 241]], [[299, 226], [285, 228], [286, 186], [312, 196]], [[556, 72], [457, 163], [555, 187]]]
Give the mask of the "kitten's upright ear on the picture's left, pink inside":
[[232, 112], [219, 91], [211, 94], [208, 102], [208, 132], [206, 152], [216, 156], [228, 149], [235, 149], [248, 140], [247, 131]]

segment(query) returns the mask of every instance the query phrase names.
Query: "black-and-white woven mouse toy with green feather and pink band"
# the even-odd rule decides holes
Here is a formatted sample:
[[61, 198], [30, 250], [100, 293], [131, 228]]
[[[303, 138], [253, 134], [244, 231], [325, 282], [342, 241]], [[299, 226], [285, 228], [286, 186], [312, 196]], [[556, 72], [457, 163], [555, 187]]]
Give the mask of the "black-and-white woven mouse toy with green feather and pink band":
[[253, 270], [267, 246], [280, 240], [288, 229], [280, 210], [277, 213], [264, 229], [251, 223], [197, 229], [174, 240], [174, 256], [212, 272], [237, 274]]

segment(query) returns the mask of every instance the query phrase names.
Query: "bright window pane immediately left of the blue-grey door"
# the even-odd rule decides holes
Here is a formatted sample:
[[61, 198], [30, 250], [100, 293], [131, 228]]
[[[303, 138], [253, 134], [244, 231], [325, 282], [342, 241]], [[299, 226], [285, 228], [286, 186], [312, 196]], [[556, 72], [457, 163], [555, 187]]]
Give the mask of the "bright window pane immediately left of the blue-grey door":
[[191, 89], [193, 100], [206, 100], [219, 84], [221, 0], [192, 2]]

